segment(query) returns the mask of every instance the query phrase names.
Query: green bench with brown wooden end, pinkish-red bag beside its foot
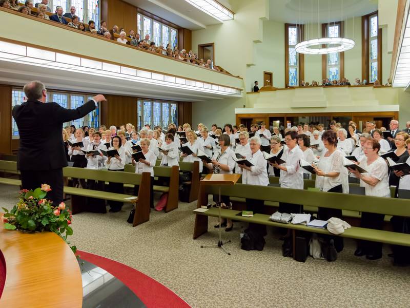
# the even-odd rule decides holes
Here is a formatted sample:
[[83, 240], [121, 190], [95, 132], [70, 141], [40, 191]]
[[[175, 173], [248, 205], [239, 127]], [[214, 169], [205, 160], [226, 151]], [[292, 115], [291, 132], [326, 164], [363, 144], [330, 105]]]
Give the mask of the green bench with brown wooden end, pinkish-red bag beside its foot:
[[[125, 172], [135, 173], [133, 165], [126, 165]], [[154, 166], [154, 177], [169, 178], [169, 186], [154, 185], [154, 191], [168, 192], [167, 205], [165, 207], [166, 213], [178, 208], [178, 190], [179, 190], [179, 172], [178, 166]], [[133, 187], [133, 185], [125, 185], [125, 187]]]

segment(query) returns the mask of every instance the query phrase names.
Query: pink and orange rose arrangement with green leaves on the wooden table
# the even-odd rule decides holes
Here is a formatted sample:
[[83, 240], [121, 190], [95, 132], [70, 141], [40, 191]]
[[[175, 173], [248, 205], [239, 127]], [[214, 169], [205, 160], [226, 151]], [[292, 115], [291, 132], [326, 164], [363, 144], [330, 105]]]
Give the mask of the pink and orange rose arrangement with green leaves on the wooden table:
[[[64, 202], [53, 206], [50, 200], [45, 199], [50, 190], [50, 185], [47, 184], [34, 190], [20, 190], [18, 203], [10, 211], [3, 207], [4, 228], [26, 232], [51, 231], [69, 244], [67, 236], [73, 234], [73, 229], [69, 226], [71, 211]], [[74, 253], [77, 250], [75, 246], [70, 248]]]

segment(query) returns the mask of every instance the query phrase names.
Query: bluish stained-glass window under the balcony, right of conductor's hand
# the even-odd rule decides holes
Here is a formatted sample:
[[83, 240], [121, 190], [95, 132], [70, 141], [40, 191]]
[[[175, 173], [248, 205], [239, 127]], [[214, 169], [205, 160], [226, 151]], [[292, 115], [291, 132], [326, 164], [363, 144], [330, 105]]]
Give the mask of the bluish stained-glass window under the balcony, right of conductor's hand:
[[137, 101], [137, 128], [140, 130], [145, 124], [151, 128], [155, 126], [168, 127], [168, 124], [178, 121], [177, 104], [157, 102], [152, 100]]

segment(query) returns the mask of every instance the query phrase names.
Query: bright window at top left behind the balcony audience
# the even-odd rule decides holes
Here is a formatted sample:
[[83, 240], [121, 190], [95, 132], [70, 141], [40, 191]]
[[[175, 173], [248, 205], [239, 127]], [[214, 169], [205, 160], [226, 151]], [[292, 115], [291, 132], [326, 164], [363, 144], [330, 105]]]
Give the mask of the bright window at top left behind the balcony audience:
[[[24, 3], [24, 1], [20, 1]], [[34, 4], [41, 3], [42, 0], [34, 0]], [[99, 0], [50, 0], [47, 5], [54, 13], [57, 6], [63, 7], [64, 13], [70, 12], [70, 7], [74, 6], [75, 14], [79, 20], [88, 23], [95, 22], [95, 27], [99, 27]]]

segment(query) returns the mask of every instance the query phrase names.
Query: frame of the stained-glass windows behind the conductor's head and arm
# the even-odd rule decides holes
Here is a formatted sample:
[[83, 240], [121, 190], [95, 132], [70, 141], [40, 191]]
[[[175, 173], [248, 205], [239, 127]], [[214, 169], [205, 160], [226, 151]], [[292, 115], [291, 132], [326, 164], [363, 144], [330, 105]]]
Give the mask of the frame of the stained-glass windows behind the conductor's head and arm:
[[[12, 87], [12, 89], [11, 89], [11, 95], [12, 95], [12, 97], [13, 97], [13, 91], [23, 91], [23, 88]], [[93, 94], [93, 93], [80, 93], [80, 92], [66, 92], [66, 91], [57, 91], [57, 90], [47, 90], [47, 102], [53, 101], [53, 99], [52, 99], [53, 94], [63, 94], [63, 95], [67, 95], [67, 109], [71, 109], [71, 106], [72, 106], [71, 97], [72, 97], [72, 96], [82, 96], [82, 97], [83, 97], [83, 104], [87, 103], [87, 102], [90, 100], [90, 98], [92, 98], [92, 97], [95, 96], [95, 94]], [[24, 92], [23, 92], [23, 101], [22, 101], [21, 103], [23, 103], [24, 101], [25, 101], [25, 97], [24, 97]], [[21, 103], [16, 102], [16, 104], [21, 104]], [[99, 104], [99, 103], [98, 103], [98, 104]], [[14, 104], [13, 99], [12, 99], [12, 100], [11, 100], [11, 106], [12, 106], [12, 108], [14, 107], [14, 105], [15, 105], [15, 104]], [[94, 113], [96, 113], [95, 115], [97, 116], [97, 125], [96, 125], [95, 128], [98, 128], [98, 126], [99, 126], [100, 123], [101, 123], [101, 114], [100, 114], [100, 112], [99, 112], [99, 108], [96, 108], [94, 111], [88, 113], [87, 115], [85, 115], [85, 117], [81, 118], [81, 119], [83, 120], [81, 127], [83, 127], [84, 125], [87, 125], [87, 126], [90, 126], [90, 125], [91, 125], [90, 127], [94, 127], [94, 126], [91, 124], [91, 123], [92, 123], [92, 119], [93, 119], [93, 114], [94, 114]], [[77, 121], [77, 120], [70, 121], [70, 122], [66, 122], [66, 123], [63, 124], [63, 127], [70, 126], [70, 125], [72, 125], [75, 121]], [[18, 140], [18, 139], [20, 139], [20, 136], [19, 136], [19, 135], [16, 135], [16, 136], [15, 136], [15, 135], [13, 134], [13, 127], [14, 127], [14, 125], [16, 125], [16, 123], [15, 123], [13, 117], [12, 117], [12, 120], [11, 120], [11, 134], [12, 134], [12, 135], [11, 135], [11, 136], [12, 136], [12, 139], [13, 139], [13, 140]], [[77, 128], [77, 127], [76, 127], [76, 128]]]

